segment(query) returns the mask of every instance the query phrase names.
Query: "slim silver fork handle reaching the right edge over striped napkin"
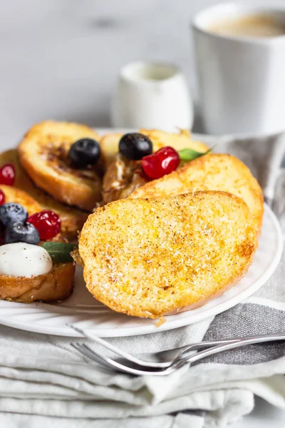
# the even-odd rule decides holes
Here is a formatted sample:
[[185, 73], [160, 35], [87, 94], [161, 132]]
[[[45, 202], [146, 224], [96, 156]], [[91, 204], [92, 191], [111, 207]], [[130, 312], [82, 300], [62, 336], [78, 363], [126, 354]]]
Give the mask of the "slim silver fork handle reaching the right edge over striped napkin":
[[217, 345], [207, 350], [197, 352], [197, 354], [195, 355], [190, 355], [189, 357], [182, 358], [182, 360], [176, 360], [175, 362], [172, 363], [171, 367], [180, 368], [190, 362], [202, 360], [205, 357], [209, 357], [209, 355], [218, 354], [219, 352], [233, 350], [234, 348], [242, 347], [245, 345], [253, 345], [254, 343], [274, 342], [275, 340], [285, 340], [285, 334], [276, 333], [274, 335], [269, 334], [269, 335], [253, 336], [253, 337], [247, 337], [247, 339], [238, 340], [237, 342], [230, 342], [230, 343], [226, 343], [225, 345]]

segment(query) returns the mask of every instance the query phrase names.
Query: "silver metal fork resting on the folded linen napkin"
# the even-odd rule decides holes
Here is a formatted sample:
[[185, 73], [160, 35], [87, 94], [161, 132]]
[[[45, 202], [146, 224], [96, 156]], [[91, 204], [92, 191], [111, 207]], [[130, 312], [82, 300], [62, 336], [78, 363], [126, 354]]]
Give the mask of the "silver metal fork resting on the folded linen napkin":
[[[96, 337], [95, 341], [99, 342], [98, 339], [100, 338]], [[94, 340], [94, 337], [92, 337], [92, 340]], [[276, 334], [244, 337], [244, 338], [224, 340], [224, 341], [200, 342], [199, 344], [190, 345], [190, 347], [192, 348], [191, 350], [193, 350], [194, 347], [196, 347], [195, 349], [199, 349], [201, 347], [204, 347], [204, 345], [208, 346], [208, 349], [199, 351], [195, 355], [192, 354], [192, 355], [183, 357], [183, 353], [185, 351], [185, 347], [184, 347], [182, 348], [182, 351], [180, 351], [171, 362], [167, 362], [167, 365], [164, 365], [163, 367], [161, 366], [157, 367], [153, 365], [153, 363], [150, 363], [151, 365], [148, 365], [149, 362], [144, 362], [133, 356], [130, 356], [131, 359], [129, 357], [126, 358], [126, 356], [129, 356], [129, 354], [127, 354], [126, 352], [122, 352], [121, 350], [119, 350], [120, 352], [116, 352], [116, 351], [114, 352], [116, 352], [119, 355], [124, 355], [125, 361], [123, 362], [113, 360], [110, 357], [99, 355], [97, 352], [95, 352], [94, 350], [91, 350], [90, 347], [88, 347], [88, 345], [85, 345], [85, 344], [81, 345], [79, 343], [73, 343], [71, 345], [75, 347], [76, 350], [81, 352], [81, 354], [90, 358], [90, 360], [99, 362], [101, 365], [104, 365], [109, 369], [112, 368], [113, 370], [116, 370], [116, 371], [135, 374], [135, 375], [165, 376], [167, 374], [175, 372], [176, 370], [180, 369], [184, 365], [202, 360], [202, 358], [209, 357], [209, 355], [214, 355], [214, 354], [217, 354], [218, 352], [231, 350], [236, 347], [242, 347], [244, 345], [252, 345], [255, 343], [262, 343], [262, 342], [272, 342], [275, 340], [285, 340], [285, 334], [276, 333]], [[100, 339], [100, 345], [105, 345], [101, 341], [105, 342], [104, 340]], [[221, 345], [221, 342], [222, 342], [222, 345]], [[112, 347], [113, 348], [112, 350], [118, 350], [118, 348], [113, 347], [113, 345], [110, 345], [108, 342], [105, 342], [105, 343], [108, 344], [108, 349]], [[211, 345], [209, 345], [209, 343], [211, 343]], [[190, 347], [187, 347], [188, 348], [187, 352], [189, 352]], [[140, 362], [142, 362], [143, 364], [140, 364]], [[147, 363], [147, 365], [145, 365], [145, 363]]]

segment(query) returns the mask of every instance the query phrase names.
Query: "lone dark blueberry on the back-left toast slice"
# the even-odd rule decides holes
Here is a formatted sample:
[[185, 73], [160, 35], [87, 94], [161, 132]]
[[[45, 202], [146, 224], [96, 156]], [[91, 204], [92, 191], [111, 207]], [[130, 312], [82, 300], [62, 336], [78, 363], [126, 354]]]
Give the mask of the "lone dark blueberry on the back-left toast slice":
[[95, 165], [100, 158], [100, 145], [91, 138], [83, 138], [73, 143], [68, 152], [68, 158], [73, 168], [86, 168]]

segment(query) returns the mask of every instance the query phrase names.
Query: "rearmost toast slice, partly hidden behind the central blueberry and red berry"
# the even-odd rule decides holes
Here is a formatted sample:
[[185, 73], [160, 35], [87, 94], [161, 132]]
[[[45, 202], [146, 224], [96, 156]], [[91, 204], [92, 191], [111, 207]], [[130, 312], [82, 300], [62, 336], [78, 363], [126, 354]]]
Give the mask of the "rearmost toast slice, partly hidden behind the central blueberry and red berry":
[[[139, 132], [150, 138], [154, 152], [165, 146], [171, 146], [177, 151], [192, 148], [201, 153], [209, 149], [206, 144], [192, 140], [190, 133], [184, 130], [180, 130], [180, 133], [167, 133], [156, 129], [140, 129]], [[110, 133], [101, 138], [100, 146], [107, 166], [114, 161], [123, 135], [123, 133]]]

